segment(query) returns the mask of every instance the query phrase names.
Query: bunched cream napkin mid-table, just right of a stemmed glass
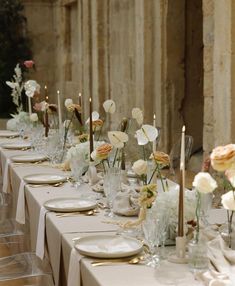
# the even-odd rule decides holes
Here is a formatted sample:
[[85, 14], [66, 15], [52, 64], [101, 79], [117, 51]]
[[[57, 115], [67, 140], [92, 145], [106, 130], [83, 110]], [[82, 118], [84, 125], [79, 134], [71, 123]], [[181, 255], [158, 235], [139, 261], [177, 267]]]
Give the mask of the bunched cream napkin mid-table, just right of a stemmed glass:
[[140, 210], [138, 197], [139, 194], [132, 189], [118, 192], [113, 201], [113, 212], [123, 216], [137, 216]]

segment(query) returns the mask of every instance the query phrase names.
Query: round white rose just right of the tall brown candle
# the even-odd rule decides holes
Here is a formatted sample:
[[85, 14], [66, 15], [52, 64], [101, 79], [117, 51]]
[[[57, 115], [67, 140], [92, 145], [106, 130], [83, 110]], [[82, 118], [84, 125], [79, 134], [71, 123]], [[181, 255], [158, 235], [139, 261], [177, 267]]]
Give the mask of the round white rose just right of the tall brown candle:
[[193, 187], [206, 194], [213, 192], [217, 188], [217, 183], [209, 173], [200, 172], [194, 177]]

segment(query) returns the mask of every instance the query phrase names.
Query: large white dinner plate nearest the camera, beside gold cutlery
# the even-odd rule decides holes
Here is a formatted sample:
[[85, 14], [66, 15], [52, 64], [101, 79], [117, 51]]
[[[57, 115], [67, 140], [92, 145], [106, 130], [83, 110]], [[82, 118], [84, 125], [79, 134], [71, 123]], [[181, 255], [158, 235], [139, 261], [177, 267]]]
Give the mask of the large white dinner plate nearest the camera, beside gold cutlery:
[[74, 247], [81, 254], [91, 257], [121, 258], [139, 253], [143, 243], [132, 237], [91, 235], [75, 240]]

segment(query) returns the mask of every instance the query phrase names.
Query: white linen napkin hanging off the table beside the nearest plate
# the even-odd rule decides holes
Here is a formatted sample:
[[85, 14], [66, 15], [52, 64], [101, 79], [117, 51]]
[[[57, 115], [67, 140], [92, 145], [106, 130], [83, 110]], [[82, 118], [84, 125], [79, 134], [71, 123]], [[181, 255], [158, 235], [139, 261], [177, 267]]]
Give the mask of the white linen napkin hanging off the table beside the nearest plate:
[[82, 256], [73, 248], [70, 253], [69, 259], [69, 272], [68, 272], [68, 284], [67, 286], [80, 286], [81, 285], [81, 273], [80, 273], [80, 260]]

